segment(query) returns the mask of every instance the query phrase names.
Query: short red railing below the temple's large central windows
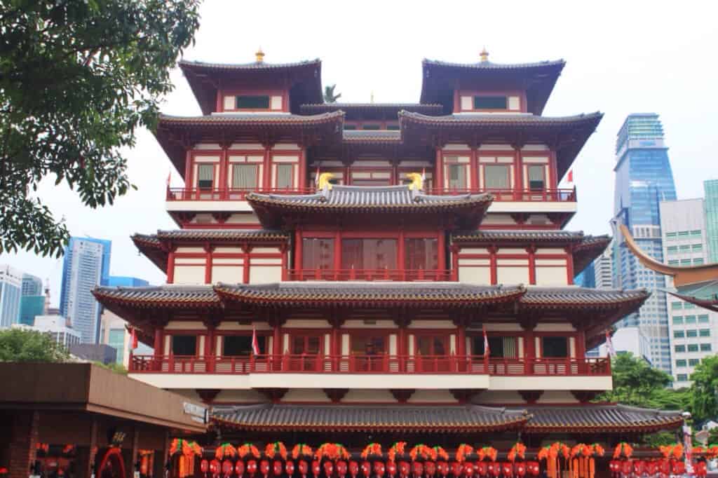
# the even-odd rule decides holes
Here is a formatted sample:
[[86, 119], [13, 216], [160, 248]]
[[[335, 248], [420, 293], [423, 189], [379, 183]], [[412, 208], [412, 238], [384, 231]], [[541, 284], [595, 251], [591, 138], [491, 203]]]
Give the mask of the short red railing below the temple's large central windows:
[[424, 269], [290, 269], [288, 281], [457, 281], [457, 271]]

